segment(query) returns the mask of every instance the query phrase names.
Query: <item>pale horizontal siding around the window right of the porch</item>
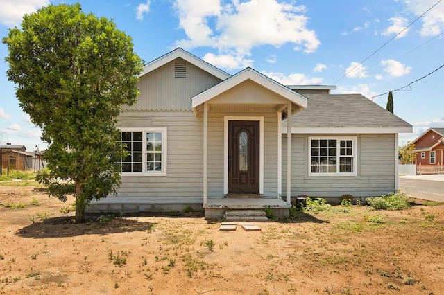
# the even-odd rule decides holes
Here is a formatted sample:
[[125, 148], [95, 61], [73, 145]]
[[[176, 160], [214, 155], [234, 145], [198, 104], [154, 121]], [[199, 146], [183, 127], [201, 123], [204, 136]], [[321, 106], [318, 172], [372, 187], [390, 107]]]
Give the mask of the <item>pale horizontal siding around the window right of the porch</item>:
[[[309, 176], [309, 136], [357, 136], [357, 176]], [[282, 135], [282, 159], [287, 159], [287, 134]], [[282, 161], [282, 187], [286, 185]], [[293, 134], [291, 154], [292, 196], [371, 197], [395, 190], [395, 134]], [[282, 190], [285, 195], [285, 191]]]

